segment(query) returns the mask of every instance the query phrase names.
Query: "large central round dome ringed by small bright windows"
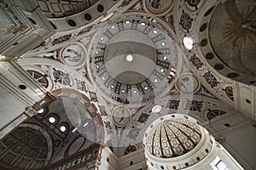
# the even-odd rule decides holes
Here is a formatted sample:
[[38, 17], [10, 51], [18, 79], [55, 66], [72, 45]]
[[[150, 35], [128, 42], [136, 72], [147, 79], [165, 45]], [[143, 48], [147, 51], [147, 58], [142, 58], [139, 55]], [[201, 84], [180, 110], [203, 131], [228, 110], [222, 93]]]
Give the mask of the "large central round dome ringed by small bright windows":
[[147, 105], [168, 93], [169, 74], [175, 76], [181, 65], [172, 33], [161, 20], [124, 14], [96, 32], [90, 43], [92, 82], [106, 99], [129, 106]]

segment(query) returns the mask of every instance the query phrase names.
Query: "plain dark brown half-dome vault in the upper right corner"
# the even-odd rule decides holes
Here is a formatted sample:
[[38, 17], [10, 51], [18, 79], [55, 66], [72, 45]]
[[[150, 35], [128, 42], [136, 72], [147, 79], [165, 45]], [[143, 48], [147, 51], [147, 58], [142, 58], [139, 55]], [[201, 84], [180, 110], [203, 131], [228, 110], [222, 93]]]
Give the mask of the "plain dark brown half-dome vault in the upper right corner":
[[[256, 76], [256, 3], [253, 0], [219, 3], [212, 14], [209, 38], [218, 58], [231, 69]], [[216, 36], [220, 34], [220, 36]]]

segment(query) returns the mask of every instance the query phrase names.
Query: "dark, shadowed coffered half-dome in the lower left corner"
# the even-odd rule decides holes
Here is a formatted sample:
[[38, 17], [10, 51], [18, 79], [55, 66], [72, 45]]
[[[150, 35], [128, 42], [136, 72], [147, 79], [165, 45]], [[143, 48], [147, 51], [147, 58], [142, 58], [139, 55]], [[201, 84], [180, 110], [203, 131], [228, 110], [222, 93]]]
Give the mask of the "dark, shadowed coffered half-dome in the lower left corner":
[[0, 142], [0, 164], [6, 169], [32, 170], [48, 163], [51, 155], [49, 134], [37, 126], [28, 126], [31, 127], [16, 128]]

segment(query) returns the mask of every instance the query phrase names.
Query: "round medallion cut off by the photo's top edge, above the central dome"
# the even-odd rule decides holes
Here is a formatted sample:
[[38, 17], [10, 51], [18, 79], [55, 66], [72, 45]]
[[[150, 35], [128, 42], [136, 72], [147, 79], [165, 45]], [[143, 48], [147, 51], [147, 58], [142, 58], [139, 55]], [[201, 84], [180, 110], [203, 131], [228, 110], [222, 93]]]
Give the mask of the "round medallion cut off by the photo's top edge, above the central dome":
[[149, 14], [162, 16], [172, 9], [172, 0], [143, 0], [143, 6]]

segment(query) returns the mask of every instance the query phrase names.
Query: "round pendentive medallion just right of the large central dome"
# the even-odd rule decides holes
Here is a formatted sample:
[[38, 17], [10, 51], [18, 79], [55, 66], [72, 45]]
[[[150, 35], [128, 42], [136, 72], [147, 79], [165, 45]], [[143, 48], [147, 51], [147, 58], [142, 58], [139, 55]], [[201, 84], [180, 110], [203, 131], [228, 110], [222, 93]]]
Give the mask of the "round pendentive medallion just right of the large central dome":
[[190, 73], [185, 73], [177, 78], [177, 91], [181, 94], [195, 94], [200, 88], [200, 82]]

